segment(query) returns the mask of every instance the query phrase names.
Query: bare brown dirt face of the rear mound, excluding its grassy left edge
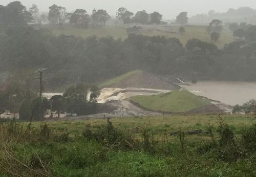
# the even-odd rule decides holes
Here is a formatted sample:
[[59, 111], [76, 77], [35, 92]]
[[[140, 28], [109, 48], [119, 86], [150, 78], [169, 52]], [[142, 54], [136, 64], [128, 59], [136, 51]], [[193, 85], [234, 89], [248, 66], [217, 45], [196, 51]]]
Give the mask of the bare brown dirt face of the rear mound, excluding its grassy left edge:
[[165, 78], [147, 72], [134, 73], [119, 82], [109, 85], [109, 87], [135, 87], [162, 90], [180, 90], [181, 88], [179, 85], [176, 85]]

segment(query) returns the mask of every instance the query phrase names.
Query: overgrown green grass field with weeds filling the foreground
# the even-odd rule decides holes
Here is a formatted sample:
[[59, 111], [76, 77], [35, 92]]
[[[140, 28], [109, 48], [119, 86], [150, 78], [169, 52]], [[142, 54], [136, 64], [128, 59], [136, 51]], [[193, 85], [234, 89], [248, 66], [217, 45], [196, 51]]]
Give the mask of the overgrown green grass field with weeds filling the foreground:
[[[0, 176], [254, 176], [256, 172], [254, 116], [110, 121], [33, 122], [30, 128], [28, 123], [1, 123]], [[212, 134], [186, 134], [199, 128]], [[178, 135], [169, 136], [173, 131]]]

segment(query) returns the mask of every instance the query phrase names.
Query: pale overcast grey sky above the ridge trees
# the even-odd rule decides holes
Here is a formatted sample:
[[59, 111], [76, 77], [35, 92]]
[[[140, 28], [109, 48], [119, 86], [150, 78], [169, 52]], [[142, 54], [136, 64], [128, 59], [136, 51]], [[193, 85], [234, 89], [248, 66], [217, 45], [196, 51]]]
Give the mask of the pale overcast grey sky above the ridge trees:
[[[7, 5], [12, 1], [1, 0], [0, 4]], [[64, 6], [69, 12], [75, 9], [86, 9], [91, 13], [93, 8], [105, 9], [110, 15], [115, 15], [119, 7], [125, 7], [136, 13], [146, 10], [148, 13], [158, 11], [164, 19], [175, 18], [180, 12], [187, 11], [188, 16], [207, 13], [214, 9], [226, 12], [229, 8], [250, 7], [256, 9], [256, 0], [20, 0], [27, 8], [36, 4], [40, 11], [48, 11], [48, 7], [56, 4]]]

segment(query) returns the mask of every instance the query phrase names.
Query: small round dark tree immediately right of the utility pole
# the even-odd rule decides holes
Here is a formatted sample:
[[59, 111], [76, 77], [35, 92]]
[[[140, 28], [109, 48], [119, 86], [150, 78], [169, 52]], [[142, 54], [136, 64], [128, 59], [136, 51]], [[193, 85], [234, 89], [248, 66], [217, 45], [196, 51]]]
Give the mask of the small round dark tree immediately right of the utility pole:
[[51, 110], [57, 111], [58, 118], [60, 111], [66, 110], [66, 99], [61, 95], [55, 95], [50, 99]]

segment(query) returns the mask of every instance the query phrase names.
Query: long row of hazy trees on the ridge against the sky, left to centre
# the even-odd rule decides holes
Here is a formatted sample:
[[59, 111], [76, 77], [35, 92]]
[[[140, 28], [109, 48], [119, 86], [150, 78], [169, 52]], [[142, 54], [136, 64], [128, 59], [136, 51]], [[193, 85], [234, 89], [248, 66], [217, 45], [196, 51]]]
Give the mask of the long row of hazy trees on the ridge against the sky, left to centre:
[[[15, 13], [20, 13], [20, 18], [17, 18]], [[49, 7], [49, 12], [39, 13], [38, 7], [33, 4], [28, 10], [20, 2], [15, 1], [7, 6], [0, 5], [0, 23], [3, 26], [18, 23], [21, 24], [38, 24], [41, 28], [42, 22], [49, 22], [57, 28], [63, 28], [63, 24], [71, 24], [76, 28], [88, 28], [89, 26], [105, 26], [106, 21], [111, 19], [111, 16], [104, 9], [93, 9], [92, 13], [88, 13], [85, 9], [76, 9], [73, 13], [67, 12], [67, 9], [62, 6], [52, 5]], [[137, 12], [135, 15], [124, 7], [118, 9], [116, 19], [119, 19], [123, 24], [160, 24], [162, 15], [159, 12], [148, 14], [145, 10]]]

